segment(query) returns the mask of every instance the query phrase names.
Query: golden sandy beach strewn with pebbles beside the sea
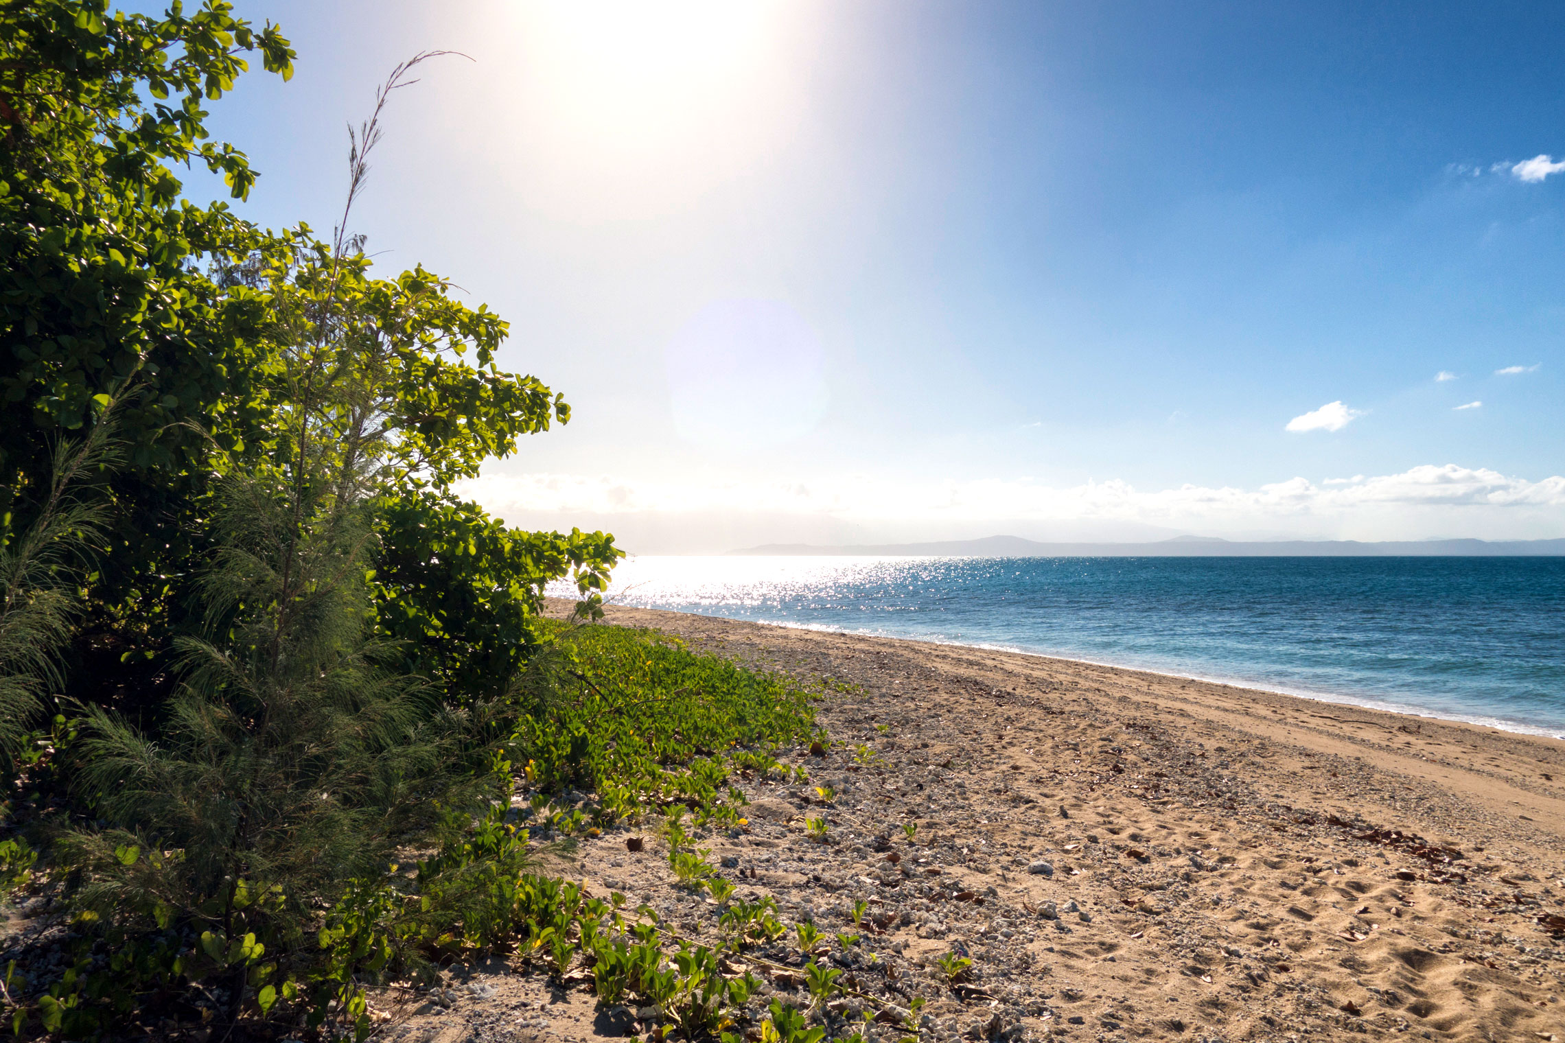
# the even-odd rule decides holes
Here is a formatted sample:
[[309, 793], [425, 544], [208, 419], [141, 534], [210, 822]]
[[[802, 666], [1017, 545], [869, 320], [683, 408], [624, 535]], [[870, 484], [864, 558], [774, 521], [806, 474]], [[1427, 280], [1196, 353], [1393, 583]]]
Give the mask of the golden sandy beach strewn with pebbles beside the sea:
[[[703, 846], [740, 896], [864, 935], [844, 970], [869, 1013], [926, 996], [936, 1040], [1565, 1038], [1562, 741], [1009, 652], [607, 622], [847, 688], [818, 704], [833, 751], [793, 758], [809, 783], [743, 783], [748, 830]], [[822, 815], [829, 843], [804, 830]], [[562, 868], [715, 927], [649, 830], [624, 841]], [[933, 966], [952, 951], [973, 962], [955, 987]], [[797, 976], [768, 988], [803, 1004]], [[449, 995], [391, 1037], [629, 1030], [502, 966]]]

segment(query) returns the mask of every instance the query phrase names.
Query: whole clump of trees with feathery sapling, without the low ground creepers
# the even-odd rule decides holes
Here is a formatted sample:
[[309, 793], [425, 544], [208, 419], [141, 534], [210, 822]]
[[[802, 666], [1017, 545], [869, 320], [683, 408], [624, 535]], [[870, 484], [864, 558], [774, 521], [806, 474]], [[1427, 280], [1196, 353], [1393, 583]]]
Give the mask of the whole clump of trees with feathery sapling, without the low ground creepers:
[[[601, 591], [621, 557], [452, 493], [570, 407], [499, 371], [504, 321], [423, 267], [377, 278], [347, 231], [380, 109], [432, 55], [352, 133], [321, 242], [180, 197], [180, 163], [255, 178], [200, 108], [247, 52], [291, 70], [222, 0], [0, 0], [0, 402], [27, 419], [0, 427], [0, 754], [41, 697], [80, 715], [47, 772], [6, 766], [49, 793], [25, 838], [70, 866], [85, 943], [28, 1005], [0, 996], [17, 1032], [95, 1035], [222, 974], [230, 1032], [308, 985], [363, 1038], [388, 860], [509, 796], [543, 586]], [[322, 951], [333, 916], [371, 929]]]

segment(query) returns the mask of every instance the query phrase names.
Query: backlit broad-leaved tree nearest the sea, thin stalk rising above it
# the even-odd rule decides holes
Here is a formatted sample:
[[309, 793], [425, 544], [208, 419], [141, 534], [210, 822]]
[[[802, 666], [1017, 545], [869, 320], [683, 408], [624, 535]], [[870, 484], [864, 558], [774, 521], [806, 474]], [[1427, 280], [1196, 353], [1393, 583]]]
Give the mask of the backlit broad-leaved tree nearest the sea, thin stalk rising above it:
[[347, 203], [332, 246], [299, 230], [288, 252], [252, 258], [246, 278], [266, 300], [264, 336], [280, 372], [271, 460], [299, 489], [322, 468], [368, 483], [382, 635], [405, 651], [408, 671], [477, 699], [504, 691], [526, 660], [543, 586], [573, 575], [596, 610], [623, 552], [601, 532], [507, 529], [451, 493], [520, 436], [567, 422], [570, 407], [537, 377], [499, 371], [499, 316], [455, 300], [449, 281], [423, 267], [372, 278], [362, 241], [347, 235], [387, 100], [440, 53], [393, 69], [371, 117], [351, 131]]

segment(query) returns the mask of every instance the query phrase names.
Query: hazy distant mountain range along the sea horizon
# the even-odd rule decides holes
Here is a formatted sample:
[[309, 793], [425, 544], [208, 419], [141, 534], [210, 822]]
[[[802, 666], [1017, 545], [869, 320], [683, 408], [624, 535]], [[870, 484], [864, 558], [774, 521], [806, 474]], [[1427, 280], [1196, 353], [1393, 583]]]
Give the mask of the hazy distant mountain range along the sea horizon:
[[1038, 543], [1020, 536], [886, 543], [825, 547], [808, 543], [768, 543], [736, 555], [933, 555], [970, 558], [1366, 558], [1366, 557], [1518, 557], [1565, 555], [1565, 539], [1277, 539], [1238, 543], [1214, 536], [1174, 536], [1157, 543]]

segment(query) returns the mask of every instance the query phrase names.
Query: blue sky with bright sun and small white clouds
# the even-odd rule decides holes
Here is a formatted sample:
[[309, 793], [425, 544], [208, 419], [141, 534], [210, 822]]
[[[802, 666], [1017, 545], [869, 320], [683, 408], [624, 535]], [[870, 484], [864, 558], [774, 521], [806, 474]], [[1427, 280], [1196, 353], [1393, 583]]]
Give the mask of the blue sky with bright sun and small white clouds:
[[474, 59], [352, 224], [573, 402], [470, 488], [512, 522], [1565, 535], [1565, 170], [1518, 167], [1565, 156], [1562, 8], [239, 11], [299, 50], [213, 106], [261, 224], [329, 230], [376, 83]]

